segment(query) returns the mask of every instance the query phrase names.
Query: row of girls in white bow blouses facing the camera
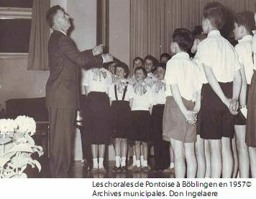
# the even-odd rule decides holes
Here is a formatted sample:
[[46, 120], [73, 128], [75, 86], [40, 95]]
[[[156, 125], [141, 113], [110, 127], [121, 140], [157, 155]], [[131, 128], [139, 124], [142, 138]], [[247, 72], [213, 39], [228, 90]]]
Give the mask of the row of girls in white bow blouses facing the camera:
[[[167, 56], [168, 54], [164, 54], [163, 60], [167, 61]], [[158, 66], [155, 69], [155, 74], [159, 74], [158, 79], [151, 72], [155, 66]], [[92, 173], [106, 172], [103, 162], [110, 137], [114, 138], [114, 172], [127, 171], [127, 139], [134, 148], [130, 170], [149, 170], [147, 144], [156, 137], [154, 150], [155, 154], [159, 155], [155, 155], [156, 159], [158, 158], [155, 161], [155, 170], [174, 166], [173, 161], [170, 162], [169, 142], [162, 139], [161, 117], [166, 97], [163, 82], [165, 64], [157, 65], [157, 59], [150, 55], [145, 57], [145, 60], [137, 57], [134, 59], [134, 76], [127, 79], [128, 74], [129, 69], [122, 62], [109, 64], [109, 70], [102, 68], [83, 71], [81, 82], [87, 95], [84, 119], [87, 128], [86, 139], [91, 144], [93, 157]], [[160, 92], [162, 95], [159, 95]], [[155, 118], [153, 120], [151, 113]], [[152, 129], [157, 131], [157, 135]]]

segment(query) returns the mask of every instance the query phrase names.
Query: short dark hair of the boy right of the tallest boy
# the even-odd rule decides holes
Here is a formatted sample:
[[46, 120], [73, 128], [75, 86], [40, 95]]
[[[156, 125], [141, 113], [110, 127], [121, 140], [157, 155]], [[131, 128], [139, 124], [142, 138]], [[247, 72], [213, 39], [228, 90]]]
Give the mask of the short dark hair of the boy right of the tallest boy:
[[252, 11], [241, 11], [234, 17], [234, 22], [251, 32], [255, 29], [255, 14]]

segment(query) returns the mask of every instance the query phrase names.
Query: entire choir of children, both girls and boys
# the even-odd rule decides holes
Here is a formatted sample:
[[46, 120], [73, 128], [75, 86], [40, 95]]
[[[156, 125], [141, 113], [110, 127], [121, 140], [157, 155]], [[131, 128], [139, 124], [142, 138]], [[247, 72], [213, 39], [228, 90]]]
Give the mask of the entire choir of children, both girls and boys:
[[[237, 175], [233, 161], [237, 150], [239, 176], [249, 178], [251, 170], [256, 178], [254, 14], [242, 11], [235, 16], [235, 47], [221, 36], [225, 21], [226, 8], [209, 2], [202, 26], [196, 26], [193, 34], [182, 28], [173, 32], [173, 57], [162, 54], [160, 64], [151, 55], [136, 57], [129, 79], [129, 68], [122, 62], [111, 68], [112, 75], [106, 69], [86, 72], [82, 82], [88, 95], [92, 172], [106, 171], [104, 151], [111, 137], [113, 172], [127, 171], [129, 153], [133, 155], [129, 170], [149, 171], [152, 141], [155, 171], [175, 163], [176, 178], [232, 178]], [[134, 150], [128, 152], [129, 145]]]

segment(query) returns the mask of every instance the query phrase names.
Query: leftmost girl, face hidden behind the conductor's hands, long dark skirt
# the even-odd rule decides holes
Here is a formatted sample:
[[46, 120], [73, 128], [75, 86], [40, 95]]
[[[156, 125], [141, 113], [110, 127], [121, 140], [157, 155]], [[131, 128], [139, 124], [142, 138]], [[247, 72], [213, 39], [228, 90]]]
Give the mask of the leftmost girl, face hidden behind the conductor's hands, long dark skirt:
[[82, 74], [82, 84], [87, 95], [85, 125], [93, 156], [92, 173], [106, 172], [103, 161], [105, 147], [109, 143], [110, 105], [107, 92], [111, 81], [111, 72], [104, 68], [89, 69]]

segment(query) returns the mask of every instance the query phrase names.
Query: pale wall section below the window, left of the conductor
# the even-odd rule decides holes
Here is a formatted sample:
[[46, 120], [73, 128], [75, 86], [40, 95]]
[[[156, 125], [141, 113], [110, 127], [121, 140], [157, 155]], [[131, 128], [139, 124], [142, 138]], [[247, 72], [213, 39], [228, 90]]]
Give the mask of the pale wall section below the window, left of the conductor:
[[48, 71], [28, 71], [27, 58], [0, 58], [0, 103], [14, 98], [44, 97]]

